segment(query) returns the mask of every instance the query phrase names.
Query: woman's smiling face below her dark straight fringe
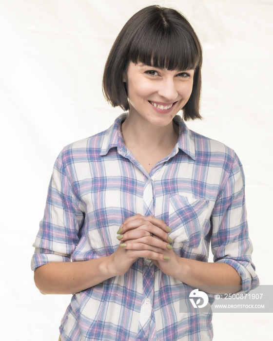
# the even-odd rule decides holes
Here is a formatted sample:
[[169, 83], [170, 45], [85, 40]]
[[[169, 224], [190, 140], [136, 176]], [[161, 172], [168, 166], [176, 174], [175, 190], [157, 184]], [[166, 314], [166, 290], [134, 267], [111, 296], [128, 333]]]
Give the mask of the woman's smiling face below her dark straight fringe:
[[190, 98], [194, 70], [170, 71], [130, 62], [123, 81], [127, 85], [129, 115], [165, 126]]

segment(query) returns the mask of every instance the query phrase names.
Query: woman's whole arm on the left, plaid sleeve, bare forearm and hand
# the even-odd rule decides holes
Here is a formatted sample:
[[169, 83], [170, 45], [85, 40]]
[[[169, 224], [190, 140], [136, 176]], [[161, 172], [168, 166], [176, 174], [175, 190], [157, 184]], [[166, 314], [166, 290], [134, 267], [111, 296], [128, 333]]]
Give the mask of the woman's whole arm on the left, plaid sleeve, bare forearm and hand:
[[[134, 229], [131, 237], [138, 240], [135, 250], [128, 251], [117, 247], [116, 252], [109, 257], [71, 262], [71, 255], [79, 243], [85, 212], [78, 192], [73, 187], [75, 174], [67, 166], [70, 164], [70, 154], [69, 147], [65, 148], [56, 160], [44, 217], [34, 243], [36, 249], [32, 258], [32, 269], [35, 270], [35, 283], [44, 294], [73, 294], [87, 289], [126, 273], [138, 257], [163, 261], [162, 247], [167, 250], [168, 245], [167, 230], [160, 228], [166, 227], [162, 221], [158, 227], [137, 215], [123, 223], [129, 229]], [[157, 233], [166, 242], [154, 240], [146, 229]], [[150, 243], [155, 245], [152, 247]]]

